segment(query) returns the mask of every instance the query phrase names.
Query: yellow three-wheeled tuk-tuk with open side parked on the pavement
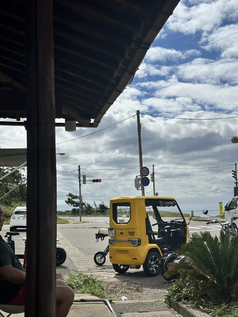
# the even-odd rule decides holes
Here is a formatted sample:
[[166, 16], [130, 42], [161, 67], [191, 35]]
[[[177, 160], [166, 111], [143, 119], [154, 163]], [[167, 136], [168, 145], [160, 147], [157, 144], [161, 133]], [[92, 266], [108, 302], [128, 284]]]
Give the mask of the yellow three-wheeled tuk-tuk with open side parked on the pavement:
[[109, 258], [118, 273], [143, 265], [147, 276], [157, 275], [162, 254], [176, 251], [189, 236], [183, 213], [172, 197], [113, 198], [109, 226]]

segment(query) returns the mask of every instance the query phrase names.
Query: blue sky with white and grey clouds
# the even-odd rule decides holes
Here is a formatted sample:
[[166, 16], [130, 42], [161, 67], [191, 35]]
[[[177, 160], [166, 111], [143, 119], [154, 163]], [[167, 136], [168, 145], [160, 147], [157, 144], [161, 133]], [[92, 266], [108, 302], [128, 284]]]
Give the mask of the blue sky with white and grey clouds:
[[[137, 110], [143, 165], [150, 174], [154, 165], [158, 195], [184, 211], [219, 210], [234, 196], [237, 108], [238, 1], [181, 0], [98, 128], [56, 127], [56, 153], [65, 153], [56, 156], [57, 210], [72, 208], [69, 192], [79, 195], [78, 165], [91, 206], [141, 195]], [[26, 148], [24, 127], [0, 126], [0, 136], [1, 148]], [[152, 182], [145, 195], [153, 196]]]

